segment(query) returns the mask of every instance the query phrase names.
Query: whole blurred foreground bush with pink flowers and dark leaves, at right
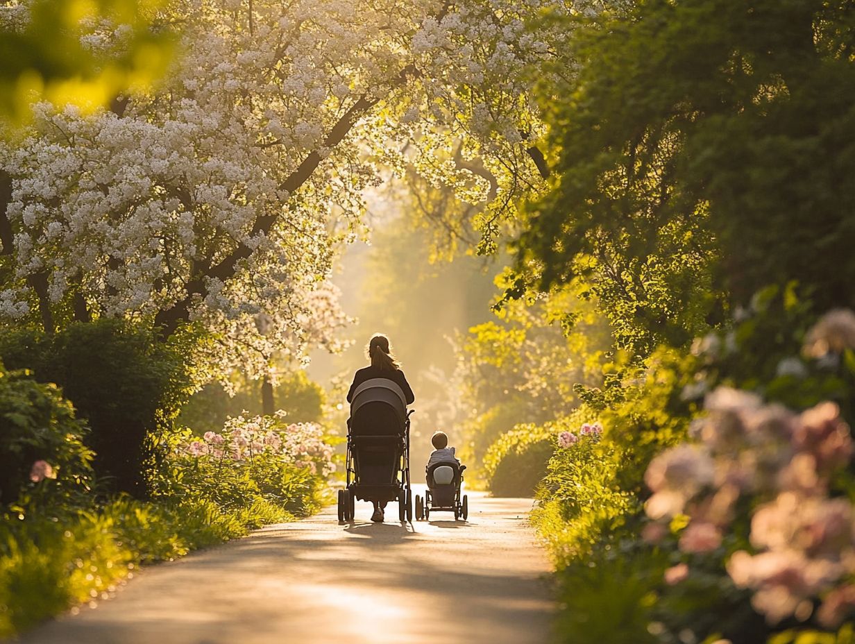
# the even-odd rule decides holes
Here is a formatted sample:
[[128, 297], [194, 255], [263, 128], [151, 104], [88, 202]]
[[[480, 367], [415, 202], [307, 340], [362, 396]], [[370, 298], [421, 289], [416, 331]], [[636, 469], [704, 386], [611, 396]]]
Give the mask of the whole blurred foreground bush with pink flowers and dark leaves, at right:
[[[697, 369], [681, 397], [702, 399], [704, 414], [692, 440], [653, 458], [644, 476], [652, 495], [640, 535], [669, 562], [651, 584], [659, 641], [683, 631], [734, 642], [847, 641], [855, 617], [850, 313], [817, 319], [791, 290], [774, 287], [737, 311], [732, 328], [695, 342]], [[840, 635], [827, 632], [838, 627]]]

